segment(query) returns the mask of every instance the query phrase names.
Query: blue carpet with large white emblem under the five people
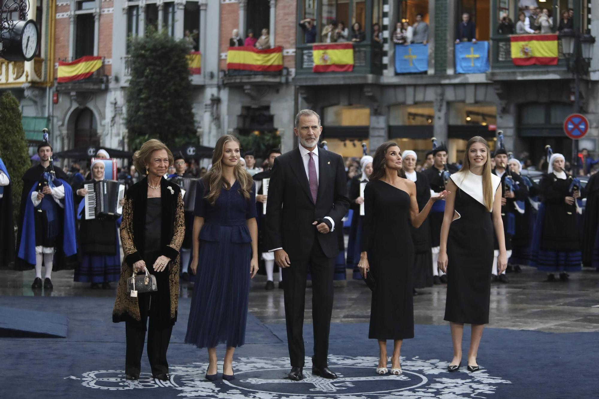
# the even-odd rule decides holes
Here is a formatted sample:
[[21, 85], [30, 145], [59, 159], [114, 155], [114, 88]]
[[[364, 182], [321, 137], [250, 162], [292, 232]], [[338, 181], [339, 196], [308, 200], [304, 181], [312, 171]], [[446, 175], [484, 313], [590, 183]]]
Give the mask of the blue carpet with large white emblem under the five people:
[[[140, 381], [121, 378], [125, 325], [111, 322], [113, 300], [75, 297], [0, 297], [0, 306], [68, 314], [66, 338], [0, 338], [2, 398], [597, 398], [597, 333], [541, 333], [486, 328], [479, 350], [482, 370], [445, 371], [452, 349], [449, 327], [416, 325], [404, 341], [403, 376], [377, 376], [377, 343], [367, 324], [333, 324], [329, 365], [335, 381], [310, 375], [304, 382], [283, 379], [289, 370], [285, 325], [248, 318], [246, 345], [235, 352], [232, 382], [203, 379], [205, 350], [183, 343], [189, 299], [181, 299], [180, 321], [168, 352], [173, 378], [159, 382], [142, 360]], [[2, 315], [0, 314], [0, 318]], [[464, 347], [468, 347], [469, 328]], [[307, 355], [311, 325], [304, 328]], [[219, 358], [224, 347], [218, 349]], [[391, 343], [389, 343], [391, 353]], [[463, 362], [462, 362], [463, 364]], [[219, 368], [219, 373], [222, 369]], [[152, 389], [149, 389], [152, 388]], [[141, 390], [143, 389], [143, 390]], [[110, 391], [108, 393], [107, 391]]]

